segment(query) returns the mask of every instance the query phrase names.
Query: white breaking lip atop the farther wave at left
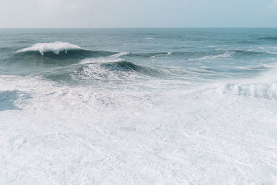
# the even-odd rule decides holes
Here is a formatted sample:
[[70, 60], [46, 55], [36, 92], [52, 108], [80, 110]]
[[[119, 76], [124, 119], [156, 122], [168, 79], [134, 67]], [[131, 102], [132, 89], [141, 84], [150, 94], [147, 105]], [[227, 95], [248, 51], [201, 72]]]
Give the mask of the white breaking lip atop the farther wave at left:
[[60, 51], [65, 51], [73, 49], [82, 49], [80, 46], [71, 44], [69, 42], [44, 42], [44, 43], [37, 43], [33, 46], [20, 49], [17, 53], [25, 52], [25, 51], [39, 51], [41, 55], [44, 55], [45, 52], [52, 51], [56, 55], [60, 53]]

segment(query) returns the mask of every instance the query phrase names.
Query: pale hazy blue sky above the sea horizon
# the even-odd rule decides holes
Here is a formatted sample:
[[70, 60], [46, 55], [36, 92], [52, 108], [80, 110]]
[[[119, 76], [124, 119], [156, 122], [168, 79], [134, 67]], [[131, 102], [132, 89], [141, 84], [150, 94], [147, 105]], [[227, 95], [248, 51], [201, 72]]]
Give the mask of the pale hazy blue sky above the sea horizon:
[[277, 27], [277, 0], [0, 0], [0, 28]]

